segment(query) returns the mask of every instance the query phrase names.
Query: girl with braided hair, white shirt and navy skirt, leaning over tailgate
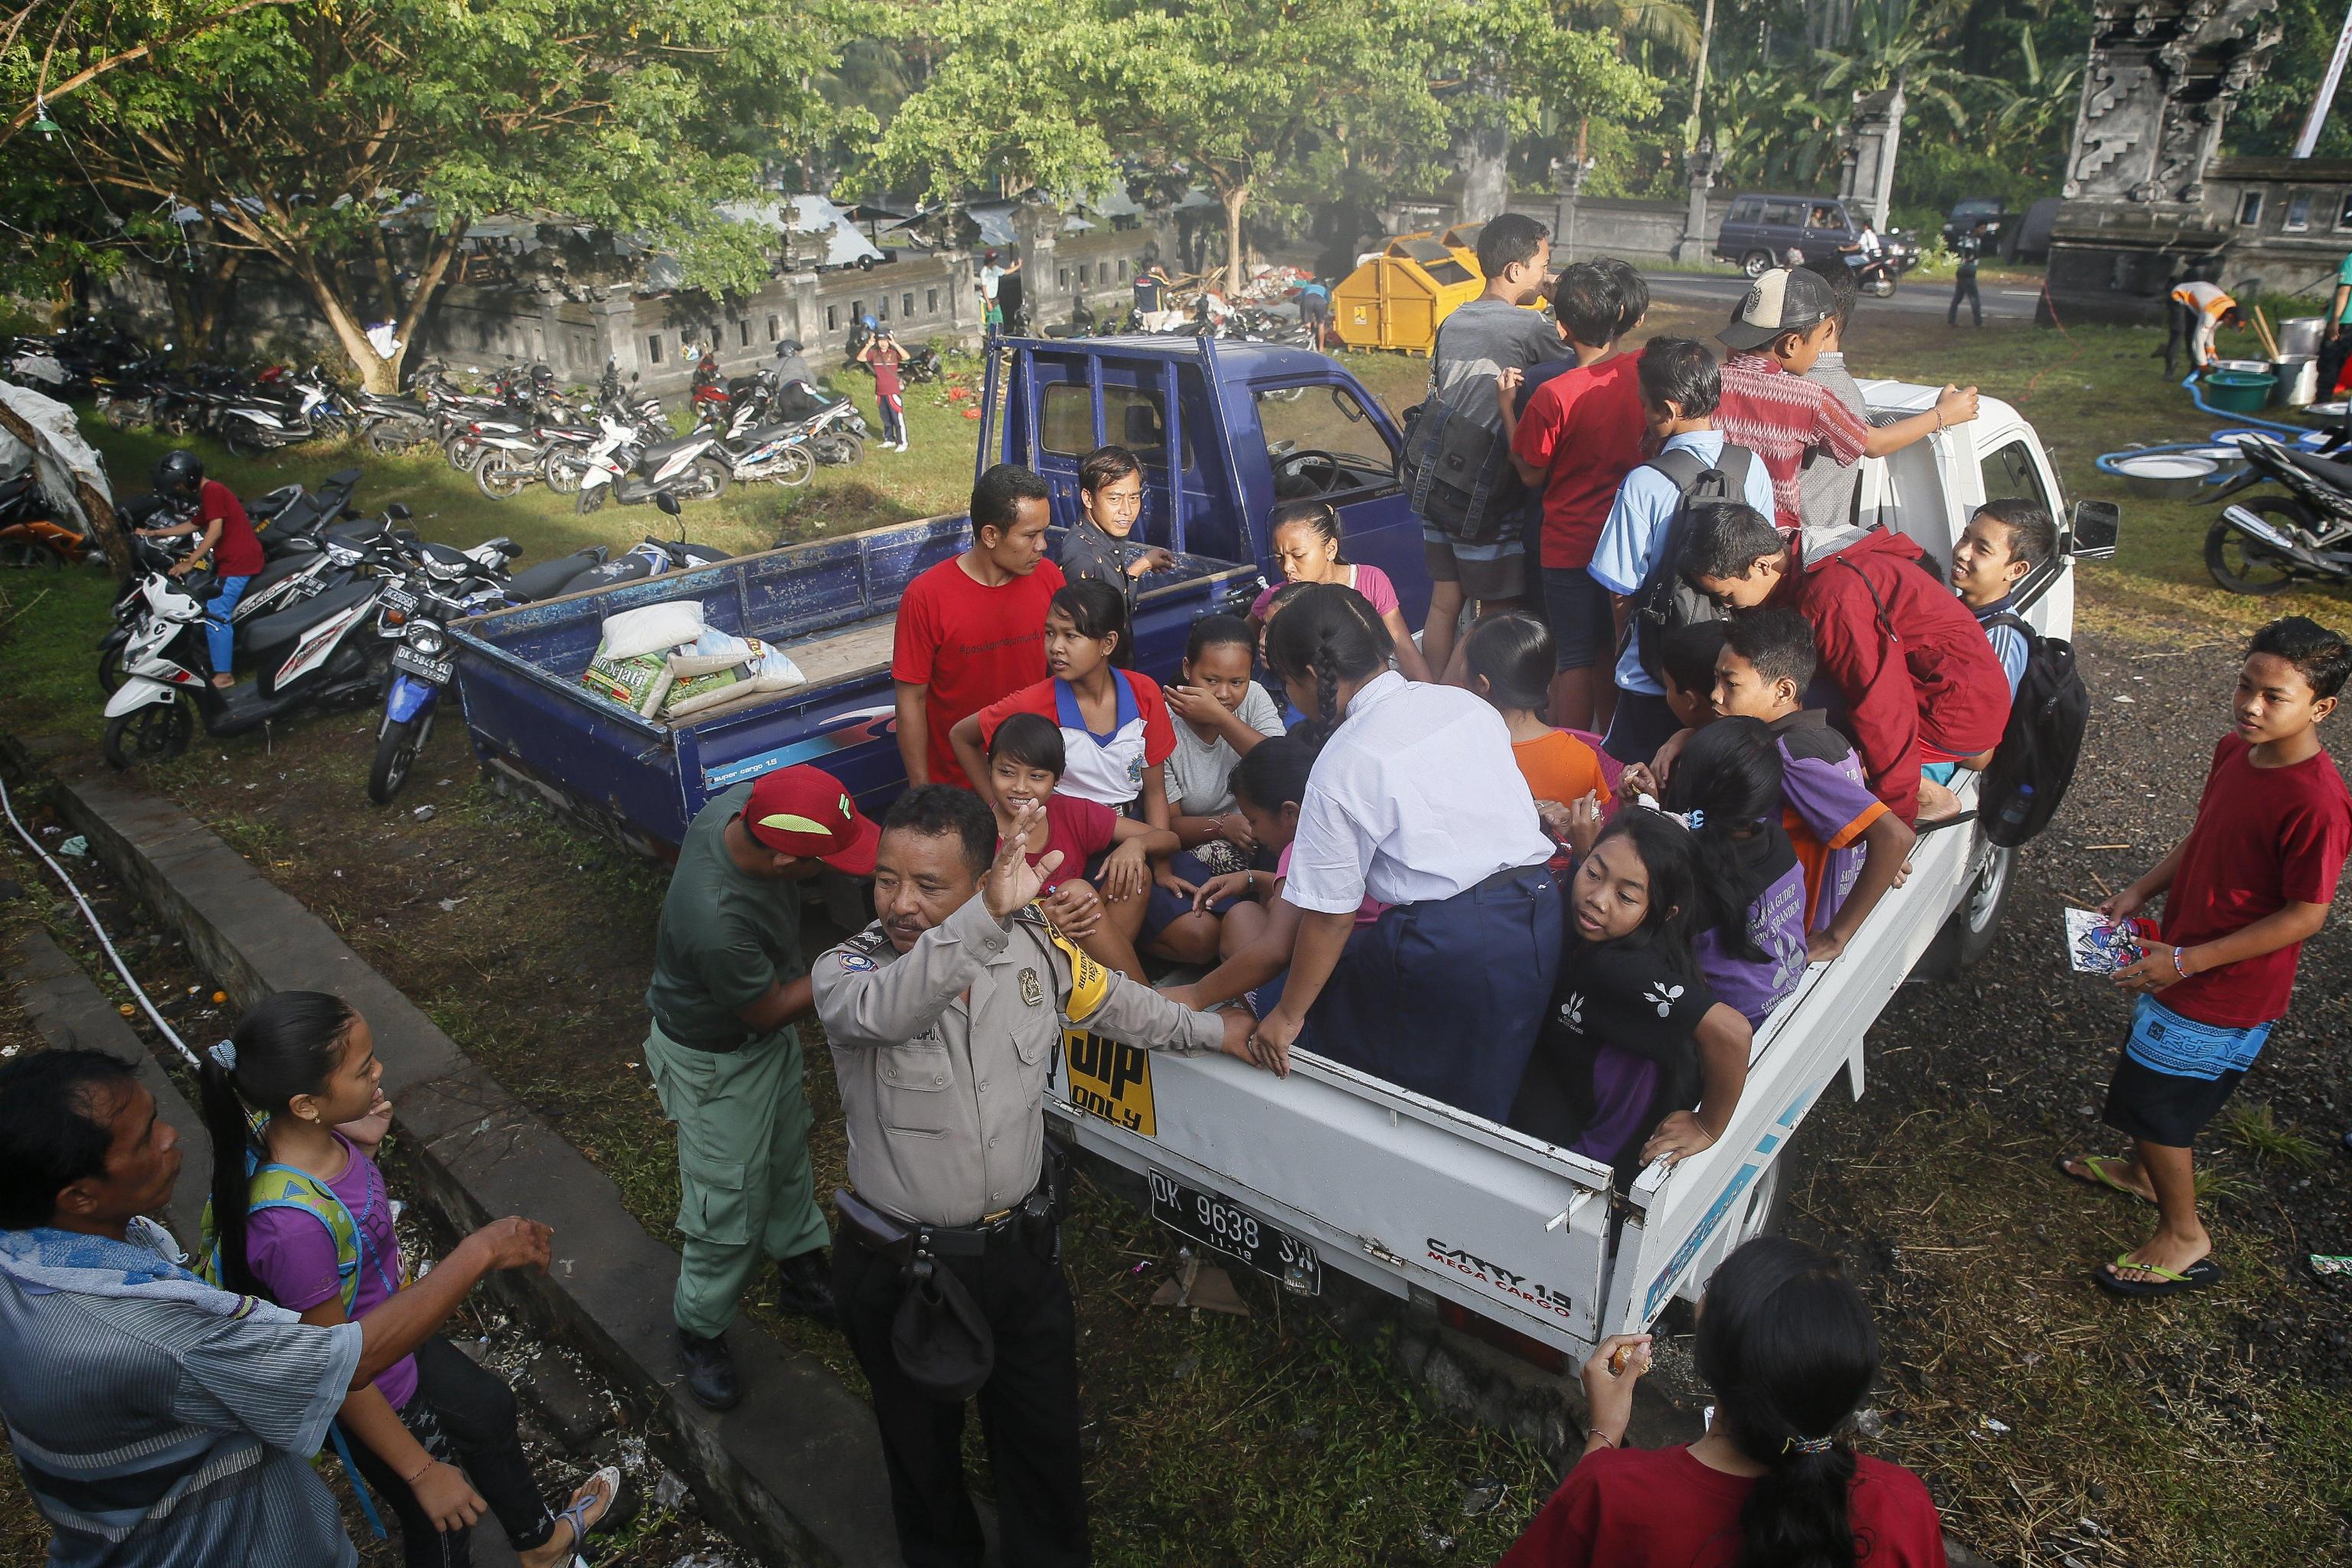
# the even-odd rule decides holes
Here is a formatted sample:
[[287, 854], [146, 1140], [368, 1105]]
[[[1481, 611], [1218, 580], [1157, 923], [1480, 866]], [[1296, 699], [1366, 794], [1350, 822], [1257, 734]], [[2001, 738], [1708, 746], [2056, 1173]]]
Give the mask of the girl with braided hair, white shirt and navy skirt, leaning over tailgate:
[[[1256, 1039], [1294, 1041], [1501, 1121], [1559, 969], [1552, 842], [1491, 705], [1388, 668], [1364, 595], [1317, 583], [1282, 607], [1265, 658], [1319, 750], [1284, 903], [1291, 973]], [[1364, 898], [1390, 905], [1357, 929]]]

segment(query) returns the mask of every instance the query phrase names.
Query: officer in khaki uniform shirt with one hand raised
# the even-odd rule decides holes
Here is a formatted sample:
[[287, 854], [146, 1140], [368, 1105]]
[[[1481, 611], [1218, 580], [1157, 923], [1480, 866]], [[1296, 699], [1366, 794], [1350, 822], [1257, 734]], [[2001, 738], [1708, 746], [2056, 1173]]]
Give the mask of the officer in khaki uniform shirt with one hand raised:
[[[960, 1453], [974, 1389], [1004, 1561], [1089, 1561], [1077, 1333], [1044, 1159], [1044, 1086], [1063, 1020], [1131, 1046], [1258, 1060], [1247, 1011], [1188, 1011], [1044, 922], [1030, 900], [1061, 856], [1025, 860], [1025, 816], [1000, 851], [976, 795], [901, 795], [875, 856], [880, 919], [811, 971], [854, 1185], [837, 1199], [833, 1293], [873, 1385], [910, 1568], [981, 1566]], [[938, 1319], [920, 1307], [941, 1300], [983, 1319], [976, 1338], [993, 1340], [993, 1361], [983, 1352], [964, 1378], [924, 1361]]]

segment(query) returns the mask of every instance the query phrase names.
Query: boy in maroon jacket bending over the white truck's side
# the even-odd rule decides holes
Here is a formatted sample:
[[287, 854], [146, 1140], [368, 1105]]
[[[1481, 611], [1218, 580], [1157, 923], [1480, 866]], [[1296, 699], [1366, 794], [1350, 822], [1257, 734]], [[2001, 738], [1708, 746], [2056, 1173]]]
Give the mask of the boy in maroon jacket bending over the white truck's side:
[[1844, 729], [1870, 790], [1903, 825], [1919, 780], [1950, 783], [2009, 724], [2009, 677], [1985, 630], [1924, 552], [1886, 529], [1806, 529], [1799, 559], [1750, 505], [1691, 508], [1684, 581], [1724, 609], [1790, 607], [1813, 623], [1820, 672], [1844, 698]]

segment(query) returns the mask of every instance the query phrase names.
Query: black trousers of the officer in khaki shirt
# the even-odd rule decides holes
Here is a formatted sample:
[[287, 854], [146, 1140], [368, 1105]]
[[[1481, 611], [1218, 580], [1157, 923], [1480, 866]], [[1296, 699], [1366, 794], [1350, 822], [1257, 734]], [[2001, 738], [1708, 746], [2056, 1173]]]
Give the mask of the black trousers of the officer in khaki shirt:
[[[978, 1406], [1004, 1561], [1084, 1568], [1091, 1552], [1077, 1450], [1077, 1312], [1049, 1246], [1049, 1234], [1025, 1237], [1014, 1227], [983, 1258], [950, 1258], [941, 1267], [955, 1269], [997, 1335], [997, 1363]], [[903, 1291], [889, 1258], [851, 1237], [833, 1248], [842, 1333], [873, 1385], [882, 1427], [898, 1556], [906, 1568], [981, 1568], [981, 1521], [964, 1490], [964, 1406], [917, 1389], [889, 1349]]]

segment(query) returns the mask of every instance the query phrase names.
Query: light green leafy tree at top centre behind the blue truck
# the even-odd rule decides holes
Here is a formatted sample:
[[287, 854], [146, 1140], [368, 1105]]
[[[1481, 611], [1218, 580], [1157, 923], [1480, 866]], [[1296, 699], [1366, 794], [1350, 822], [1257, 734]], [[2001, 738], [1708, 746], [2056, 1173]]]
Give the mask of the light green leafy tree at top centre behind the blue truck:
[[1230, 289], [1249, 205], [1334, 148], [1411, 179], [1479, 118], [1653, 101], [1548, 0], [941, 0], [920, 26], [938, 63], [882, 134], [875, 179], [934, 197], [1197, 181], [1225, 214]]

